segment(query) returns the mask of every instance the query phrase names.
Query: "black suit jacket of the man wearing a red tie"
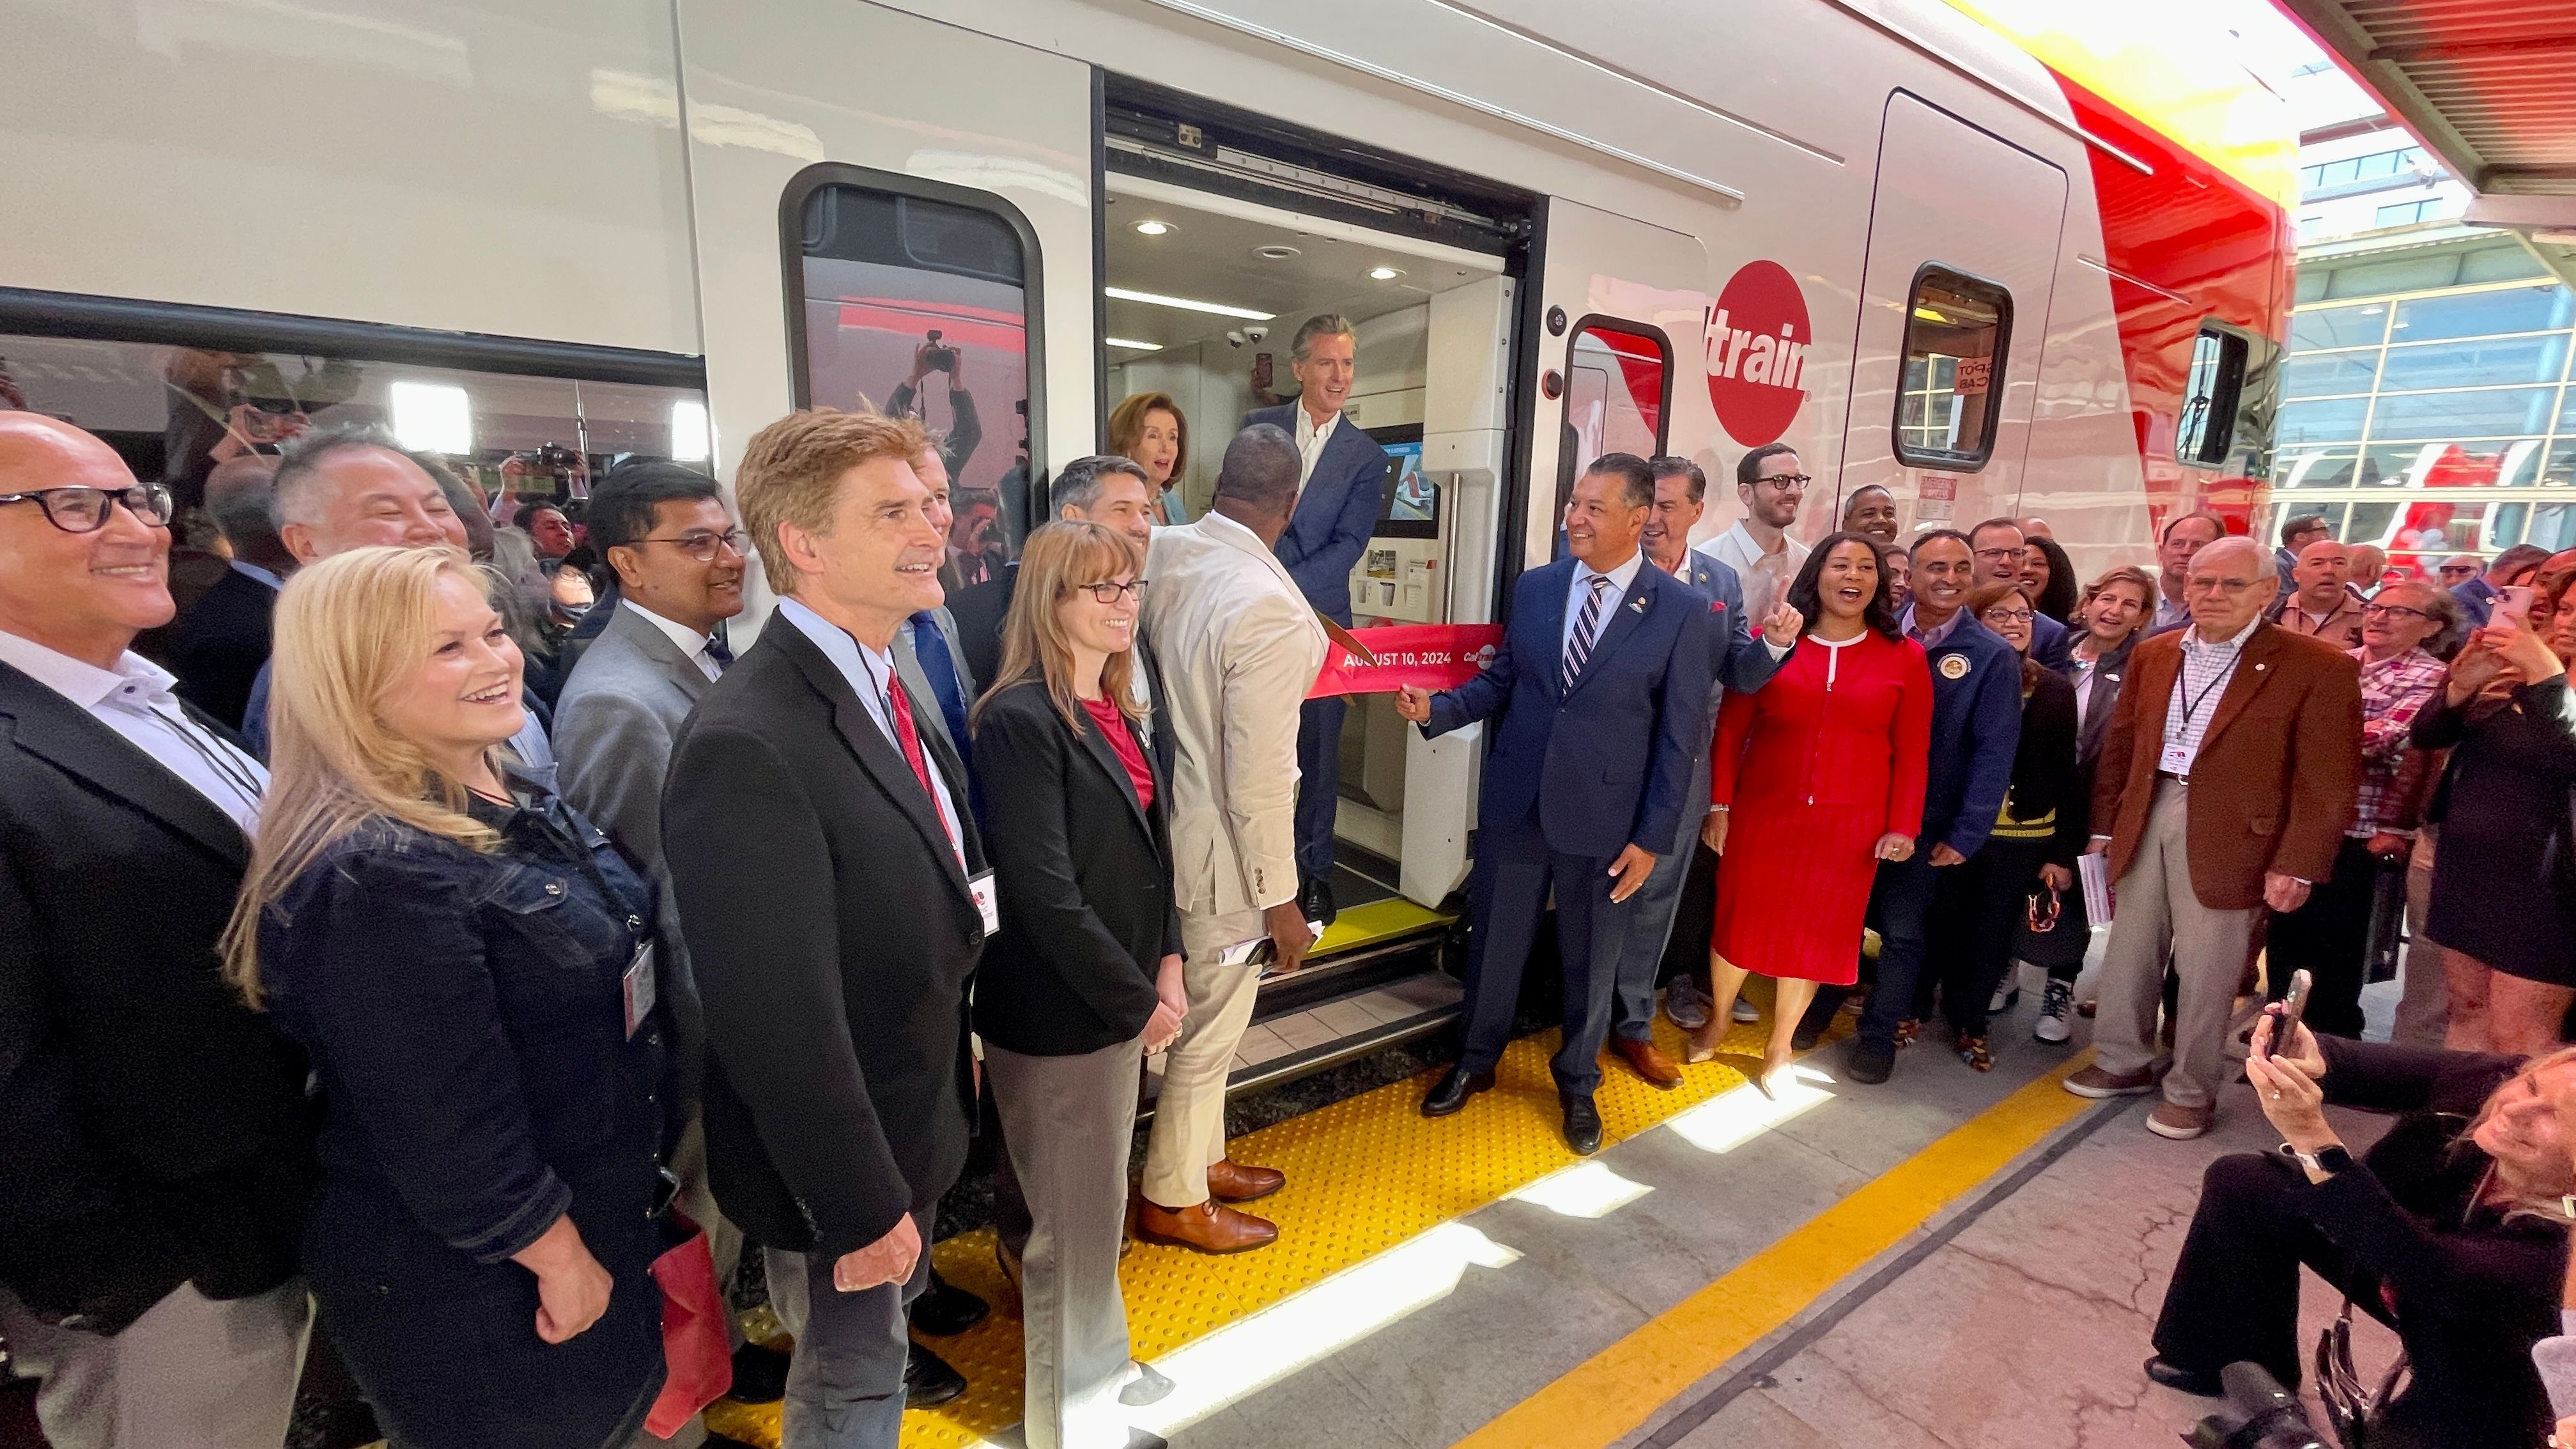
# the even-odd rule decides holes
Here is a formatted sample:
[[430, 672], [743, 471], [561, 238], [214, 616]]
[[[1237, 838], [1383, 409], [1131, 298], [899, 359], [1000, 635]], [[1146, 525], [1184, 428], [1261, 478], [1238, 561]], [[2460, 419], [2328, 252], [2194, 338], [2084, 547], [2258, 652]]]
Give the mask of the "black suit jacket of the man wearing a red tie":
[[[966, 771], [938, 732], [922, 748], [981, 871]], [[724, 1214], [837, 1258], [935, 1212], [966, 1165], [981, 913], [912, 766], [793, 621], [773, 616], [680, 730], [662, 856], [706, 1003]]]

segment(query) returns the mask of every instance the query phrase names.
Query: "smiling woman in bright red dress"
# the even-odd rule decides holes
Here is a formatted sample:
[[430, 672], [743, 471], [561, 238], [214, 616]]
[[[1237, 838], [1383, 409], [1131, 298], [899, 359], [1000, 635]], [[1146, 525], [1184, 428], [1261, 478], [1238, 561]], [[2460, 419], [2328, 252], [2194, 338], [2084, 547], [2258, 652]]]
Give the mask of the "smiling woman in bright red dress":
[[1690, 1062], [1718, 1055], [1749, 972], [1780, 982], [1754, 1085], [1772, 1091], [1819, 982], [1852, 985], [1878, 861], [1914, 853], [1932, 750], [1932, 670], [1896, 629], [1878, 544], [1834, 534], [1788, 606], [1814, 619], [1780, 673], [1728, 694], [1708, 755], [1708, 825], [1726, 856], [1708, 944], [1716, 1006]]

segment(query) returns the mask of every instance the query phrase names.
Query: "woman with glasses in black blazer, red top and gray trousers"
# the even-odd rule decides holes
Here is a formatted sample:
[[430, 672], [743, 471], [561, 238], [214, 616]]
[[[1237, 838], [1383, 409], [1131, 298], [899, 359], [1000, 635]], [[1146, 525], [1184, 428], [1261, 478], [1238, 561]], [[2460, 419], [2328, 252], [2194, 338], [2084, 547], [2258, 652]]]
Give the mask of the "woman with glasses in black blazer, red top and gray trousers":
[[974, 1024], [1002, 1116], [999, 1250], [1005, 1271], [1020, 1263], [1030, 1449], [1123, 1444], [1118, 1395], [1141, 1374], [1118, 1297], [1136, 1075], [1180, 1036], [1188, 1000], [1172, 776], [1139, 730], [1141, 565], [1100, 523], [1030, 534], [971, 719], [1002, 908]]

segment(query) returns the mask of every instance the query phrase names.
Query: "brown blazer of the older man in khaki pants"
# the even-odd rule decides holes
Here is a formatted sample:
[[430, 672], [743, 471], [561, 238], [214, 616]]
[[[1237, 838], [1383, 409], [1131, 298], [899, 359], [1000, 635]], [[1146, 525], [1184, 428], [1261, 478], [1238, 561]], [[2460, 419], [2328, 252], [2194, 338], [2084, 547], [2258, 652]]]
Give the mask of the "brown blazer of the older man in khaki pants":
[[[2146, 835], [2182, 629], [2128, 657], [2128, 686], [2094, 761], [2094, 833], [2120, 879]], [[2362, 776], [2362, 673], [2352, 655], [2257, 624], [2192, 761], [2192, 895], [2210, 910], [2262, 905], [2267, 871], [2321, 882]]]

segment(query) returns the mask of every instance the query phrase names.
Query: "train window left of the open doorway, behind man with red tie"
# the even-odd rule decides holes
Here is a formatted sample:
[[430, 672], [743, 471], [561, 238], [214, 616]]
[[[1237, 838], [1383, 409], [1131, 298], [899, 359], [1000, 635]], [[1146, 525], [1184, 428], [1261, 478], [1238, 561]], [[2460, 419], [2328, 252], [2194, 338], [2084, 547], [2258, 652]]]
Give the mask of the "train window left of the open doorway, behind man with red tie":
[[853, 165], [799, 173], [786, 217], [796, 405], [927, 423], [956, 511], [945, 583], [994, 578], [1046, 516], [1036, 232], [999, 196]]

